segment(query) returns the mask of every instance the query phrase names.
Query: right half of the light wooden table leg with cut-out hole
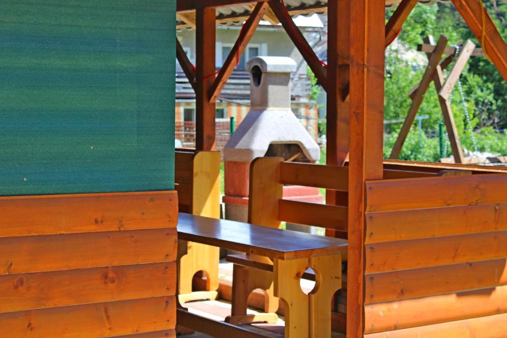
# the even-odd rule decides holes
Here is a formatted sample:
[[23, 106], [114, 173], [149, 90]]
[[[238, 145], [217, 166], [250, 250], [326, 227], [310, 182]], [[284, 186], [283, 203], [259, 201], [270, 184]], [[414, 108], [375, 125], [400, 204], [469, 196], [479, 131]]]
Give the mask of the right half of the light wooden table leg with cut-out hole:
[[342, 287], [341, 255], [310, 258], [315, 288], [310, 292], [310, 337], [331, 337], [331, 302]]

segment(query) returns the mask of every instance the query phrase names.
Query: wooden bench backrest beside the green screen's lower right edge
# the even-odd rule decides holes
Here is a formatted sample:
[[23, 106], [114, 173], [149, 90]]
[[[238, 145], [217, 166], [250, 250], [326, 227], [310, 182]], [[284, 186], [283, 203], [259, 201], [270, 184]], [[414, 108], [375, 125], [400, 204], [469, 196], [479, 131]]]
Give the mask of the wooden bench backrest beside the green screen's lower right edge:
[[175, 188], [181, 212], [220, 218], [220, 152], [175, 152]]

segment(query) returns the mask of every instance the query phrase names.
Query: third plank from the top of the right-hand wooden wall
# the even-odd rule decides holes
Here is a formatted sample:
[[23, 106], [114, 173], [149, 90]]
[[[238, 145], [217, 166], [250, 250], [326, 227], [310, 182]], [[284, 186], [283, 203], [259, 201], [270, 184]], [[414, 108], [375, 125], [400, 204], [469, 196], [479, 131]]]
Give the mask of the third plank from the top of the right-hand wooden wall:
[[507, 257], [507, 231], [366, 244], [367, 273]]

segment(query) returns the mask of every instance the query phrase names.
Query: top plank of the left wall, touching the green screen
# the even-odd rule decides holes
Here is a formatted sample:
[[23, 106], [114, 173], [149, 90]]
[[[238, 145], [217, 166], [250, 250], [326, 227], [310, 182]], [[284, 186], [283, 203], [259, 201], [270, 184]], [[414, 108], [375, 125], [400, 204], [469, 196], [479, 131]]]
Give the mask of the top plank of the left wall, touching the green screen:
[[176, 192], [0, 197], [0, 237], [174, 228]]

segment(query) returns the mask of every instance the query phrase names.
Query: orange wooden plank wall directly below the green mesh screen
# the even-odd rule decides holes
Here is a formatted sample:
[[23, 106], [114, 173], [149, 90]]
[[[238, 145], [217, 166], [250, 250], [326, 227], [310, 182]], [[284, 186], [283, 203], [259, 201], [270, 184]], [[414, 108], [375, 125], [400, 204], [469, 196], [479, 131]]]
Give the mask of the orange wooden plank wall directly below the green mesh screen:
[[176, 192], [0, 197], [0, 336], [174, 336]]

